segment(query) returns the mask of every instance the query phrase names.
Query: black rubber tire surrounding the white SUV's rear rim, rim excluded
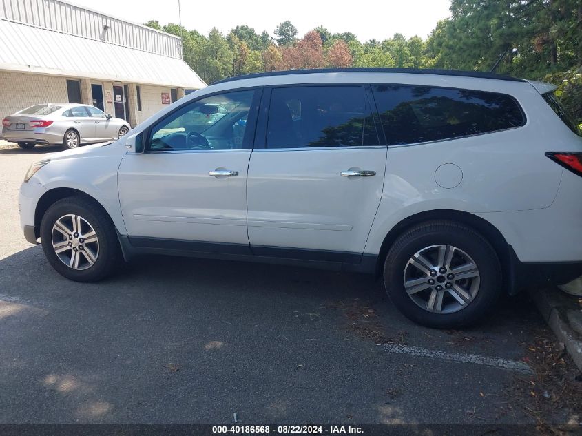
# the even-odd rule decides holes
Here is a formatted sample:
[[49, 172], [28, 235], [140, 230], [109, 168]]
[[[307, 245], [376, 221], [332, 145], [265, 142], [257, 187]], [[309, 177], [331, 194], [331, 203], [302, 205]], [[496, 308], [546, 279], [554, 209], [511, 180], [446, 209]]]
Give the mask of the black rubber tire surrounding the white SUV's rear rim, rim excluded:
[[[470, 302], [464, 302], [466, 306], [455, 302], [455, 299], [452, 298], [452, 293], [447, 289], [444, 289], [444, 291], [435, 291], [433, 287], [432, 289], [423, 289], [418, 294], [414, 293], [417, 302], [419, 300], [422, 302], [424, 301], [422, 298], [427, 298], [427, 307], [430, 304], [431, 293], [434, 292], [435, 295], [439, 293], [444, 295], [441, 300], [443, 311], [447, 307], [445, 300], [448, 301], [448, 307], [454, 307], [455, 305], [461, 307], [461, 309], [457, 309], [457, 311], [452, 313], [434, 313], [420, 307], [413, 300], [413, 297], [408, 295], [404, 286], [405, 269], [408, 261], [413, 258], [415, 253], [426, 249], [426, 247], [436, 245], [448, 245], [459, 249], [460, 251], [455, 251], [457, 253], [455, 256], [461, 256], [461, 258], [464, 254], [467, 254], [474, 264], [477, 265], [479, 273], [479, 281], [475, 282], [477, 292], [473, 294], [473, 299]], [[438, 248], [433, 250], [438, 250]], [[464, 253], [459, 254], [461, 251], [464, 251]], [[428, 249], [428, 251], [424, 251], [423, 253], [430, 254], [431, 252]], [[431, 263], [436, 264], [438, 262]], [[450, 271], [454, 271], [454, 269], [450, 269]], [[443, 276], [439, 271], [436, 272], [438, 276], [435, 278]], [[420, 273], [420, 277], [423, 277], [422, 273]], [[426, 277], [427, 280], [431, 278], [431, 276]], [[443, 279], [446, 280], [443, 284], [447, 284], [449, 280], [446, 278], [446, 275], [443, 276]], [[451, 282], [447, 286], [454, 287], [455, 285], [453, 283], [459, 283], [453, 282], [453, 279], [451, 279]], [[461, 281], [462, 283], [464, 282]], [[435, 283], [435, 285], [438, 284], [438, 282]], [[475, 324], [495, 305], [495, 302], [501, 294], [501, 266], [493, 247], [477, 231], [457, 222], [435, 220], [408, 229], [397, 238], [388, 251], [386, 262], [384, 263], [384, 285], [388, 297], [397, 309], [410, 320], [435, 329], [458, 329]], [[420, 287], [423, 286], [426, 285], [422, 284]], [[455, 291], [455, 289], [452, 289], [452, 291]], [[460, 297], [458, 293], [457, 296]]]

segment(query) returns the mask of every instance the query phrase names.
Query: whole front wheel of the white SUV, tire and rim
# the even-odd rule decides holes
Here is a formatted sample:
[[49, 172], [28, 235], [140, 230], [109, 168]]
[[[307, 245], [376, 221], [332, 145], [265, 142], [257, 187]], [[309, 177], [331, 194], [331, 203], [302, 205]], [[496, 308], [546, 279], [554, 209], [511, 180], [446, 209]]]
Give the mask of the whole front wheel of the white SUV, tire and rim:
[[[81, 217], [76, 219], [81, 231], [75, 232], [79, 224], [74, 227], [74, 217]], [[64, 226], [59, 226], [61, 230], [56, 229], [57, 221]], [[41, 221], [41, 243], [52, 267], [76, 282], [102, 280], [121, 262], [121, 249], [111, 218], [94, 200], [84, 196], [63, 198], [48, 208]], [[56, 253], [54, 245], [60, 253]], [[74, 262], [76, 258], [78, 262]]]

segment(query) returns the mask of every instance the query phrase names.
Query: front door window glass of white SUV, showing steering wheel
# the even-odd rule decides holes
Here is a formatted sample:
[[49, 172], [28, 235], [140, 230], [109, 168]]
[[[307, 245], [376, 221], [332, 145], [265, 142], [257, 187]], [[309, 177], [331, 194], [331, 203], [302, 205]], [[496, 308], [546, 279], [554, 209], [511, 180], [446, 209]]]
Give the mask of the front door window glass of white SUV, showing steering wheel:
[[254, 94], [253, 90], [227, 92], [181, 107], [152, 127], [149, 149], [250, 148], [252, 132], [247, 132], [247, 117]]

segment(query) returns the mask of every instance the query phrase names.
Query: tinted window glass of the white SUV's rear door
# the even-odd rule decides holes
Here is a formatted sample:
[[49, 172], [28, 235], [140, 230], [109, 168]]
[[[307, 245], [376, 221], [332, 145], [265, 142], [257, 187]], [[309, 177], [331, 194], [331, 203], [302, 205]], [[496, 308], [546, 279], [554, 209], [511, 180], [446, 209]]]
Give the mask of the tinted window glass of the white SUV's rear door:
[[362, 86], [274, 88], [267, 148], [378, 145]]

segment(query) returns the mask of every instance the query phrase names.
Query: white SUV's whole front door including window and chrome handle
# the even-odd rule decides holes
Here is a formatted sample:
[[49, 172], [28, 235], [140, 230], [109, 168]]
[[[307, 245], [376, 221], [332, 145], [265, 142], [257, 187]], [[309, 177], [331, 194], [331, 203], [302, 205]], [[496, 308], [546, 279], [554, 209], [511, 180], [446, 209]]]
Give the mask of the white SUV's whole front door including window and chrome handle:
[[247, 167], [257, 94], [189, 102], [149, 129], [143, 154], [123, 158], [119, 197], [132, 244], [249, 253]]

